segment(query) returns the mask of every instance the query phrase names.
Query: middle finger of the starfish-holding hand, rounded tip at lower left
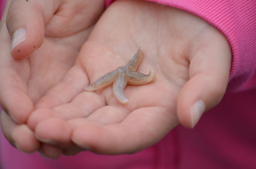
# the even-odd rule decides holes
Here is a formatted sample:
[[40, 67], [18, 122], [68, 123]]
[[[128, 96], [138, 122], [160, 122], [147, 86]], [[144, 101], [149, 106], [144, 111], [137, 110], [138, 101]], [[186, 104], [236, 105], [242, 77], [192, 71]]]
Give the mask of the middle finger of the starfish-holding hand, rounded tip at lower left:
[[[76, 118], [68, 123], [61, 118], [48, 118], [35, 127], [35, 135], [43, 143], [58, 145], [64, 148], [68, 154], [87, 150], [84, 145], [78, 148], [71, 140], [74, 128], [81, 126], [105, 126], [112, 123], [120, 123], [128, 115], [122, 108], [105, 106], [87, 118]], [[65, 131], [65, 132], [63, 132]]]

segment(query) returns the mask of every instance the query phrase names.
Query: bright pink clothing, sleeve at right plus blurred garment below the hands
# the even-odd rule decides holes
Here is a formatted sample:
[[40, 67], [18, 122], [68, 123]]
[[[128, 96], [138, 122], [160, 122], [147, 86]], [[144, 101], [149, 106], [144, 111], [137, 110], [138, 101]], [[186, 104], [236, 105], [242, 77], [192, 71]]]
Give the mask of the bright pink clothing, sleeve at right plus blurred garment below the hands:
[[18, 152], [0, 135], [3, 169], [256, 169], [256, 1], [151, 1], [196, 14], [227, 37], [233, 62], [230, 90], [221, 103], [195, 129], [177, 126], [155, 146], [134, 155], [83, 152], [48, 160]]

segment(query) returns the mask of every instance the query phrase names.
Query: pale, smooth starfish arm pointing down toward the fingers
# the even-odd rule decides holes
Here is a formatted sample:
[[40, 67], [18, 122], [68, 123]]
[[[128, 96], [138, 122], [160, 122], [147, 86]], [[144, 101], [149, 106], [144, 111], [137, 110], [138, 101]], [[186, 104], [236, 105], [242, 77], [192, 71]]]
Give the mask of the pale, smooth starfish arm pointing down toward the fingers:
[[125, 79], [125, 73], [119, 74], [113, 83], [113, 93], [116, 96], [116, 99], [123, 104], [128, 103], [128, 99], [125, 97], [124, 94], [124, 89], [126, 85], [127, 80]]

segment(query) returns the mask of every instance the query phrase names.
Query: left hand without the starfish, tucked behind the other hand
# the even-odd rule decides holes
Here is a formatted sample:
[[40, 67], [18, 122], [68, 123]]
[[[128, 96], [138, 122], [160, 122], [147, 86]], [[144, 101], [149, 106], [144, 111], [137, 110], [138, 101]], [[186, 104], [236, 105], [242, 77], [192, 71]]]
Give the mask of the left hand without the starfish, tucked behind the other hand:
[[40, 146], [27, 118], [74, 65], [104, 8], [104, 0], [7, 0], [0, 26], [1, 126], [21, 151]]

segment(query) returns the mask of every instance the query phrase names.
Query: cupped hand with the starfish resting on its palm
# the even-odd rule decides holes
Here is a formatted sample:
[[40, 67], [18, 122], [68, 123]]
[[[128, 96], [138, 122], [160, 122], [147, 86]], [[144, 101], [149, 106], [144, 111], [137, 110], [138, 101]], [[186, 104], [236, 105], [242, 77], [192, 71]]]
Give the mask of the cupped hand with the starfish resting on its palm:
[[[153, 68], [156, 80], [127, 86], [128, 104], [116, 100], [111, 86], [83, 91], [125, 65], [138, 46], [145, 53], [138, 72], [148, 74]], [[115, 1], [72, 69], [38, 101], [41, 108], [32, 113], [28, 125], [39, 140], [66, 155], [82, 149], [134, 153], [157, 143], [179, 122], [193, 128], [223, 97], [230, 65], [226, 38], [201, 18], [145, 1]]]

